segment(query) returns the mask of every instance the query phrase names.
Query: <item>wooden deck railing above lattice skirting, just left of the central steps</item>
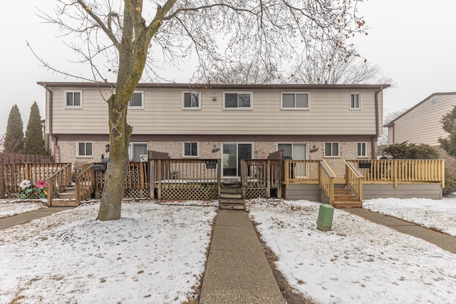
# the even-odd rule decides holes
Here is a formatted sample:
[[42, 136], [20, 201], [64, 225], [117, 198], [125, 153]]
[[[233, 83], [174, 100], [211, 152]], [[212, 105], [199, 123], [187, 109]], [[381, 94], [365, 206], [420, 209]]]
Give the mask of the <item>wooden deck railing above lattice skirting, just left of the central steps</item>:
[[220, 159], [151, 159], [150, 164], [150, 184], [157, 189], [157, 199], [162, 199], [164, 187], [185, 193], [186, 189], [218, 189], [220, 185]]

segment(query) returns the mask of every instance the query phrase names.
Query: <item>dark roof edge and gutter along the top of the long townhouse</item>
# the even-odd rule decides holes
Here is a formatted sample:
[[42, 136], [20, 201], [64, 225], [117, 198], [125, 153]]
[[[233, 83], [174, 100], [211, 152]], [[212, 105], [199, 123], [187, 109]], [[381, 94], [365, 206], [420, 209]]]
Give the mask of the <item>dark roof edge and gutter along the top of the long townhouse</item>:
[[[88, 82], [38, 82], [47, 88], [114, 88], [115, 83]], [[136, 88], [186, 89], [186, 90], [383, 90], [389, 84], [367, 85], [309, 85], [309, 84], [203, 84], [203, 83], [138, 83]]]

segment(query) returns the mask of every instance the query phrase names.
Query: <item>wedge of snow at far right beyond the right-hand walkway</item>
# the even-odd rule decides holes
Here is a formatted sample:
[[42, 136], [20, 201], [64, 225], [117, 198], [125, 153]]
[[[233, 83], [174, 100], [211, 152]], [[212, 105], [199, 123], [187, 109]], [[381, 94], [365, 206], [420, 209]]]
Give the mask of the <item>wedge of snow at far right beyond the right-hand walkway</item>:
[[456, 199], [368, 199], [366, 209], [456, 236]]

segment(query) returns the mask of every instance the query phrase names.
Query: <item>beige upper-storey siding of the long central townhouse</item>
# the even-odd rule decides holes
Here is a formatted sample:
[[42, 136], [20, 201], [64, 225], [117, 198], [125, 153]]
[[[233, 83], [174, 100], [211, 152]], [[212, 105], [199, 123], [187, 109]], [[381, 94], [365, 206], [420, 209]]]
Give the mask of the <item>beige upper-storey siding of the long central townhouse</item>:
[[[108, 132], [108, 105], [98, 90], [83, 90], [82, 110], [63, 108], [63, 89], [53, 91], [55, 134]], [[254, 90], [252, 110], [224, 110], [224, 90], [203, 90], [201, 110], [189, 111], [182, 110], [182, 89], [145, 89], [144, 109], [129, 109], [128, 123], [138, 135], [375, 135], [375, 91], [361, 90], [362, 110], [356, 111], [350, 90], [305, 91], [310, 110], [281, 110], [286, 90]]]

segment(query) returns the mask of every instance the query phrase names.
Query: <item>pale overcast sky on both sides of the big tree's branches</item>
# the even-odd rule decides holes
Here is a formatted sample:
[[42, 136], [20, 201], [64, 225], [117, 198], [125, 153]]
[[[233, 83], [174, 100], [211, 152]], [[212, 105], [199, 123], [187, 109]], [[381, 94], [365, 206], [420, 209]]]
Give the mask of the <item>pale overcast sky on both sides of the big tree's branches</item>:
[[[37, 81], [74, 81], [39, 66], [26, 41], [49, 63], [73, 72], [80, 68], [69, 62], [74, 54], [63, 45], [57, 28], [36, 16], [36, 6], [51, 11], [55, 4], [36, 0], [2, 3], [0, 134], [6, 131], [14, 104], [19, 106], [24, 130], [33, 101], [44, 118], [45, 90]], [[358, 51], [370, 63], [380, 65], [383, 74], [396, 84], [385, 91], [385, 112], [411, 108], [432, 93], [456, 91], [455, 11], [456, 1], [452, 0], [369, 0], [358, 4], [358, 14], [371, 27], [368, 36], [356, 39]], [[190, 75], [171, 71], [170, 77], [187, 83]]]

